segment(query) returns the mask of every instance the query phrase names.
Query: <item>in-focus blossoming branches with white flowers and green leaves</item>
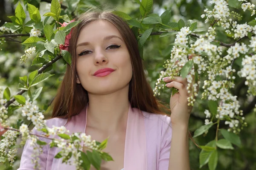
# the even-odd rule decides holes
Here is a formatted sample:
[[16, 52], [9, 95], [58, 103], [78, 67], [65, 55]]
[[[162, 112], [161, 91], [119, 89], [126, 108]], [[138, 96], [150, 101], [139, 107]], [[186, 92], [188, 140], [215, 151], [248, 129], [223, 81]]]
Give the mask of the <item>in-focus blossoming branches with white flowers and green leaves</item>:
[[[151, 13], [153, 0], [135, 1], [140, 6], [139, 19], [132, 18], [122, 11], [113, 13], [122, 17], [131, 26], [137, 37], [141, 57], [143, 46], [151, 35], [160, 35], [160, 38], [176, 37], [170, 47], [170, 57], [164, 63], [153, 91], [156, 96], [164, 94], [167, 88], [163, 77], [181, 76], [187, 78], [187, 90], [192, 93], [188, 98], [188, 105], [193, 106], [196, 100], [207, 100], [209, 108], [204, 111], [204, 125], [195, 130], [193, 138], [207, 134], [210, 128], [216, 128], [215, 139], [199, 146], [200, 167], [207, 164], [210, 170], [215, 170], [218, 164], [218, 151], [233, 150], [235, 145], [241, 147], [239, 133], [247, 126], [239, 100], [231, 93], [236, 78], [244, 77], [244, 84], [248, 86], [247, 94], [256, 96], [256, 19], [241, 21], [242, 16], [231, 11], [250, 11], [253, 16], [255, 5], [246, 0], [212, 0], [212, 6], [206, 6], [204, 14], [201, 15], [209, 26], [205, 30], [197, 28], [198, 23], [193, 20], [185, 22], [180, 19], [177, 23], [170, 22], [170, 10], [164, 11], [161, 15]], [[73, 10], [74, 7], [66, 3]], [[52, 0], [50, 12], [43, 14], [45, 18], [42, 20], [38, 8], [29, 1], [24, 1], [24, 7], [27, 8], [30, 17], [25, 23], [25, 11], [18, 2], [15, 16], [9, 17], [12, 23], [5, 23], [0, 27], [2, 38], [26, 37], [21, 42], [27, 48], [20, 58], [22, 63], [26, 62], [31, 54], [36, 54], [31, 65], [41, 65], [38, 70], [20, 77], [18, 94], [12, 94], [8, 87], [0, 91], [3, 93], [0, 96], [0, 123], [8, 130], [0, 142], [0, 162], [15, 162], [17, 139], [20, 137], [20, 145], [29, 140], [33, 146], [35, 154], [32, 161], [35, 167], [39, 161], [37, 156], [46, 144], [61, 148], [61, 152], [55, 158], [61, 158], [67, 164], [75, 164], [77, 169], [87, 170], [92, 164], [99, 170], [102, 159], [112, 161], [111, 156], [104, 152], [107, 139], [100, 143], [85, 133], [70, 134], [63, 126], [49, 128], [44, 120], [43, 111], [34, 103], [41, 94], [42, 87], [35, 90], [33, 87], [54, 76], [47, 73], [52, 69], [52, 64], [63, 59], [65, 64], [71, 65], [71, 55], [67, 51], [68, 40], [72, 28], [79, 21], [70, 20], [69, 15], [63, 12], [61, 15], [61, 8], [67, 8], [63, 4], [65, 3], [62, 1], [60, 4], [58, 0]], [[63, 21], [64, 23], [60, 23]], [[232, 43], [218, 40], [216, 29], [220, 27], [224, 34], [233, 39]], [[233, 68], [235, 62], [239, 63], [239, 69]], [[203, 89], [202, 94], [197, 93], [200, 85]], [[172, 89], [172, 94], [176, 92], [176, 89]], [[17, 124], [10, 124], [10, 117], [14, 116], [17, 109], [21, 109], [21, 117]], [[220, 128], [221, 122], [224, 122], [225, 128]], [[30, 125], [35, 125], [32, 132], [29, 130]], [[47, 143], [44, 139], [51, 142]], [[81, 141], [88, 149], [86, 153], [82, 152]], [[71, 158], [73, 161], [70, 161]]]

